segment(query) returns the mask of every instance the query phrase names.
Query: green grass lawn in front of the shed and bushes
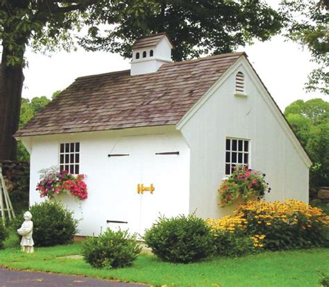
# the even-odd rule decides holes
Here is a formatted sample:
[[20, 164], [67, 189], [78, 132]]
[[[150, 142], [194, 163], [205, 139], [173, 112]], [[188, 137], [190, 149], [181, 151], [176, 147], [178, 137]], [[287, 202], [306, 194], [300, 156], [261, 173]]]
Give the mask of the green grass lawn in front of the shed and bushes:
[[187, 265], [163, 263], [155, 256], [140, 256], [133, 267], [97, 270], [82, 259], [81, 245], [36, 248], [24, 254], [15, 248], [0, 251], [0, 265], [90, 277], [149, 283], [153, 286], [319, 286], [321, 273], [329, 274], [329, 249], [264, 252], [238, 259], [215, 258]]

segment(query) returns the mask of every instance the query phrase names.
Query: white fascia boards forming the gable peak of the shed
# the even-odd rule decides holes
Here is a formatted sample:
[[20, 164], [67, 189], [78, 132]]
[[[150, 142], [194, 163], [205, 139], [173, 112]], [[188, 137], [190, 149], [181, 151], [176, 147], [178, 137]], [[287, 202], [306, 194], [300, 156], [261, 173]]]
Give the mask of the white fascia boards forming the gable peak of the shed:
[[249, 63], [249, 61], [246, 59], [245, 56], [241, 56], [232, 66], [230, 66], [226, 72], [217, 80], [212, 87], [205, 92], [205, 95], [199, 99], [199, 101], [190, 108], [187, 113], [182, 117], [182, 119], [176, 124], [176, 129], [180, 130], [185, 126], [185, 124], [189, 121], [191, 117], [196, 113], [203, 104], [205, 104], [206, 101], [212, 96], [212, 94], [228, 79], [228, 77], [239, 67], [242, 65], [246, 72], [248, 72], [248, 75], [251, 77], [251, 81], [253, 81], [253, 84], [258, 89], [258, 92], [260, 92], [260, 95], [264, 99], [265, 103], [271, 110], [274, 117], [276, 117], [276, 120], [278, 120], [280, 126], [282, 126], [283, 131], [285, 131], [285, 134], [289, 138], [290, 142], [292, 142], [292, 145], [299, 151], [299, 154], [301, 154], [301, 158], [303, 159], [303, 162], [307, 166], [307, 168], [310, 168], [312, 165], [312, 161], [310, 160], [309, 156], [306, 154], [305, 150], [301, 146], [301, 142], [296, 138], [296, 135], [290, 128], [289, 124], [285, 120], [285, 117], [282, 115], [280, 109], [276, 105], [274, 99], [269, 94], [269, 91], [267, 88], [264, 87], [264, 84], [260, 80], [258, 74], [255, 73], [255, 70]]

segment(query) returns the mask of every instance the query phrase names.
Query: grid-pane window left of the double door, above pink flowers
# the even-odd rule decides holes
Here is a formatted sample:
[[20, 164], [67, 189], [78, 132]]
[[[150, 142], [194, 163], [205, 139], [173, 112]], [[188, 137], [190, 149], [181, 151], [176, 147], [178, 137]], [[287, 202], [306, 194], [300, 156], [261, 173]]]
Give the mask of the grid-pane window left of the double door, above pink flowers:
[[60, 170], [67, 170], [70, 174], [79, 173], [80, 142], [60, 144]]

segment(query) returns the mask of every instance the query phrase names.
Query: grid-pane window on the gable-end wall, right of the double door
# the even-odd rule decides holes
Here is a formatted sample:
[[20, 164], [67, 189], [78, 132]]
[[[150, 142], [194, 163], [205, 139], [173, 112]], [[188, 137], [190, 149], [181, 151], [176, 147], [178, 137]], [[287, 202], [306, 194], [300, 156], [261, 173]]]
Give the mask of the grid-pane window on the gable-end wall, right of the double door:
[[249, 163], [249, 140], [226, 138], [225, 175], [230, 175], [236, 165]]

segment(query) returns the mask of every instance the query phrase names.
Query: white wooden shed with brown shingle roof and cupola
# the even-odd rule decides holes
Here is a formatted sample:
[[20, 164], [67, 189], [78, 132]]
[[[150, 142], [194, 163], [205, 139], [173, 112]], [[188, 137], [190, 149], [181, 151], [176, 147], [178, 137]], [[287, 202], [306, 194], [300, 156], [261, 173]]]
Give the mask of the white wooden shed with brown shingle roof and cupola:
[[237, 164], [267, 174], [266, 199], [307, 202], [310, 158], [246, 54], [173, 63], [172, 48], [165, 33], [137, 41], [131, 70], [76, 79], [17, 131], [31, 153], [30, 204], [51, 165], [86, 174], [86, 200], [62, 197], [82, 236], [142, 234], [160, 214], [221, 217], [231, 208], [217, 188]]

